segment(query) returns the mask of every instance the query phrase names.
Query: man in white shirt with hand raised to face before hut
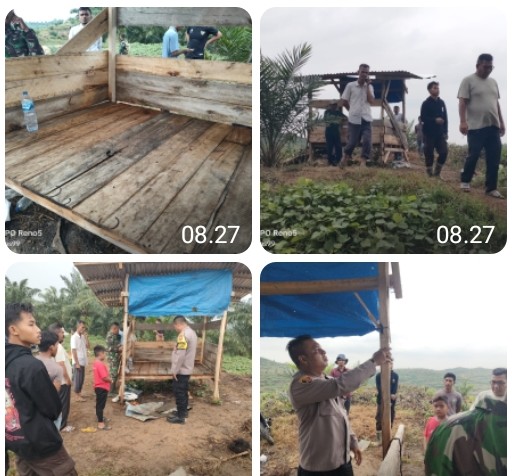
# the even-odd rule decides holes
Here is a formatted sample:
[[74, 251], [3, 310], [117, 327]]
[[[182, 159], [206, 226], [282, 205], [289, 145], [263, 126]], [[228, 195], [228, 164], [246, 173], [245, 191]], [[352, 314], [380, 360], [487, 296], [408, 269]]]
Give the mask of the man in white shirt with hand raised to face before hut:
[[361, 140], [361, 156], [370, 165], [372, 152], [372, 106], [377, 105], [370, 80], [370, 67], [361, 64], [357, 81], [348, 83], [341, 95], [343, 106], [348, 111], [348, 144], [345, 146], [342, 167], [352, 160], [352, 152]]

